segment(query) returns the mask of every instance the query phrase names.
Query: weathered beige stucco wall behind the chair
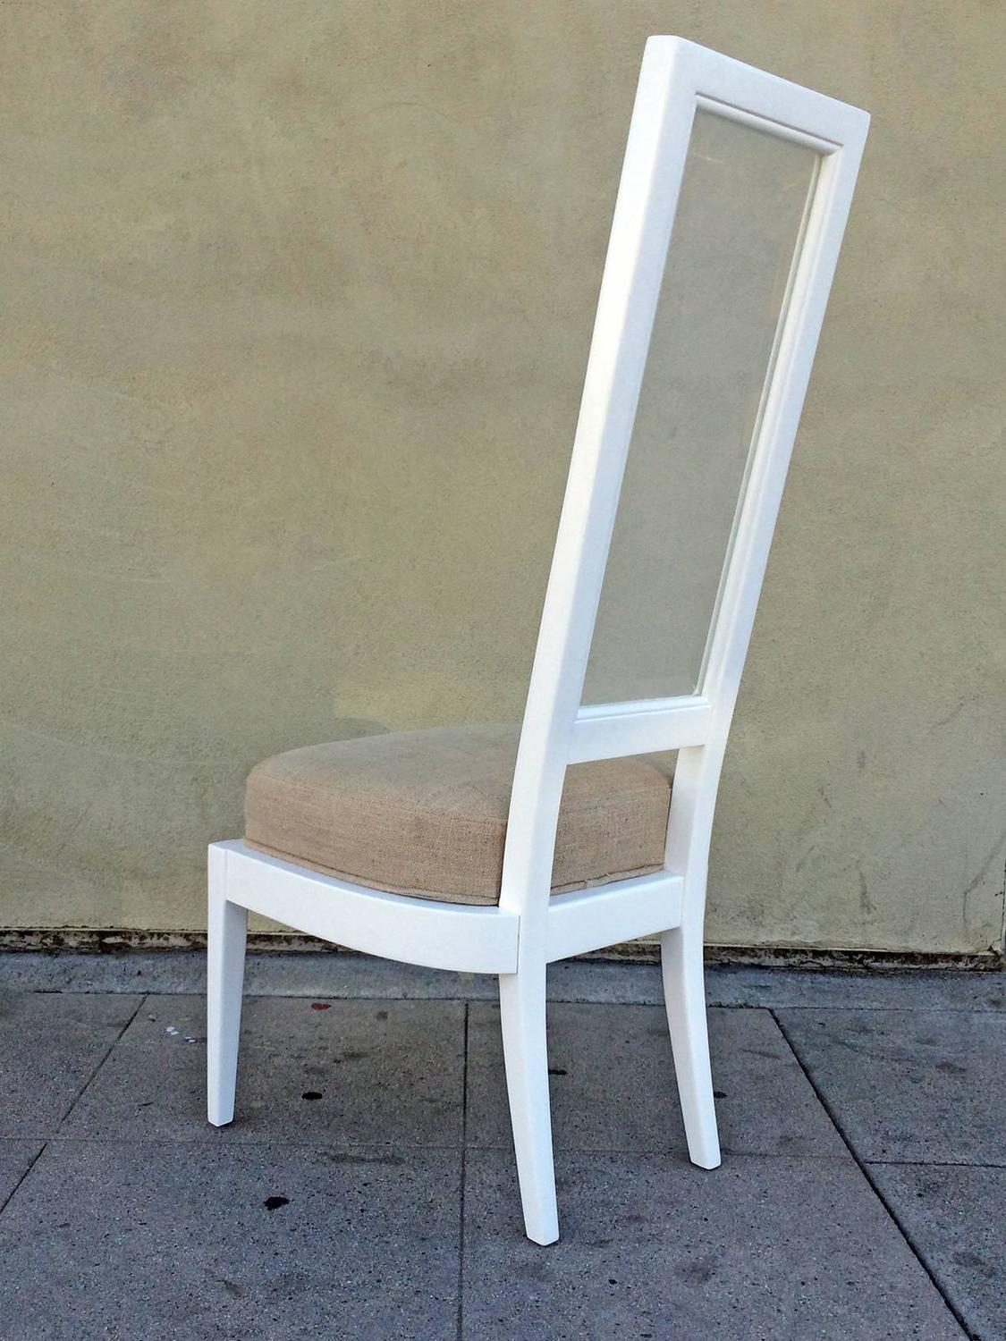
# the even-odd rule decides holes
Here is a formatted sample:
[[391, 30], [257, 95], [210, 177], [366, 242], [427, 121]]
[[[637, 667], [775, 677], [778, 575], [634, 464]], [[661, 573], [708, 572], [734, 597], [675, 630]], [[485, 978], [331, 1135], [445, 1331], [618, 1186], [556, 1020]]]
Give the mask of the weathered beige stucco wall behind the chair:
[[999, 940], [995, 4], [0, 12], [4, 924], [199, 927], [258, 758], [516, 713], [636, 70], [677, 31], [875, 114], [710, 939]]

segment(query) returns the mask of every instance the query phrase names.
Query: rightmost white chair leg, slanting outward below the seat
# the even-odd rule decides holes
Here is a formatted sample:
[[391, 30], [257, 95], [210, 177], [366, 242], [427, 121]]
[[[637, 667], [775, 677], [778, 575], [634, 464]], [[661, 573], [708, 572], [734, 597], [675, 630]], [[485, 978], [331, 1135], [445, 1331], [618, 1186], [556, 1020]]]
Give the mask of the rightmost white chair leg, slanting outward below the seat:
[[715, 1169], [720, 1153], [706, 1022], [702, 932], [687, 935], [680, 927], [664, 932], [660, 961], [688, 1156], [692, 1164]]

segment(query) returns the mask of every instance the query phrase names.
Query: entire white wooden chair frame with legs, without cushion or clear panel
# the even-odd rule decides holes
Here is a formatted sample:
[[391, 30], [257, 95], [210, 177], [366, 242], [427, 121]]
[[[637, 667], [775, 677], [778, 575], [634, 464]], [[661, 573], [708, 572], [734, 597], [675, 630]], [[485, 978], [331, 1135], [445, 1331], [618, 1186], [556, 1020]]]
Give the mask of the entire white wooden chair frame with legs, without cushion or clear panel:
[[[786, 286], [697, 691], [581, 707], [626, 452], [696, 109], [820, 157]], [[558, 1234], [545, 1031], [546, 963], [661, 933], [679, 1093], [693, 1161], [719, 1163], [702, 932], [712, 815], [769, 546], [869, 118], [680, 38], [651, 38], [601, 283], [510, 803], [499, 908], [405, 898], [211, 849], [211, 1120], [229, 1118], [240, 905], [368, 953], [500, 975], [503, 1041], [527, 1234]], [[668, 599], [673, 599], [668, 593]], [[679, 750], [665, 873], [550, 896], [569, 763]], [[223, 892], [221, 892], [223, 890]], [[243, 936], [240, 937], [243, 944]], [[227, 1015], [227, 1025], [223, 1016]], [[213, 1116], [216, 1114], [216, 1117]], [[224, 1116], [225, 1114], [225, 1116]]]

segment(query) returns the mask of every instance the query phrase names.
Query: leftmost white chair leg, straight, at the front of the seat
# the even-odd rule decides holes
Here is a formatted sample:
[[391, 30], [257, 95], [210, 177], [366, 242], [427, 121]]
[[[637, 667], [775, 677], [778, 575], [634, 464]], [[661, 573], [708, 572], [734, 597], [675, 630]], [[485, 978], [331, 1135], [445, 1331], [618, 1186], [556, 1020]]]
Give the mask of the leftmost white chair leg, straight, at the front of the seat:
[[233, 1120], [247, 935], [248, 911], [227, 901], [225, 854], [211, 848], [207, 937], [207, 1117], [213, 1126], [225, 1126]]

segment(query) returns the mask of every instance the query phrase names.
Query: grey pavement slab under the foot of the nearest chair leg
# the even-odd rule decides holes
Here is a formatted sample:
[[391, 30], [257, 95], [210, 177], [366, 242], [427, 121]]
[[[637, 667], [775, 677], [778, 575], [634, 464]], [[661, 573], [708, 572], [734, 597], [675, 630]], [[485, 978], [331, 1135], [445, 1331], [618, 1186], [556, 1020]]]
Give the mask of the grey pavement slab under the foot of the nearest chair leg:
[[465, 1341], [960, 1341], [850, 1160], [559, 1152], [559, 1243], [520, 1235], [512, 1160], [469, 1151]]

